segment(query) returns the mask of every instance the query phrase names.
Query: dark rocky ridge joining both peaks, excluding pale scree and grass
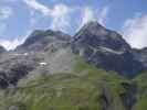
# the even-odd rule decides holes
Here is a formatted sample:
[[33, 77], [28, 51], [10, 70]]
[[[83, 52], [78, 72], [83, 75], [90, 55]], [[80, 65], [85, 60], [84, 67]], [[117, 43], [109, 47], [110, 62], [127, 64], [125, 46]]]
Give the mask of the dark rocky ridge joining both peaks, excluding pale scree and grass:
[[96, 21], [83, 25], [74, 36], [60, 31], [35, 30], [14, 51], [23, 53], [49, 48], [53, 51], [65, 45], [70, 45], [74, 54], [84, 57], [90, 64], [117, 72], [123, 76], [134, 77], [147, 69], [145, 48], [132, 48], [120, 34], [102, 26]]

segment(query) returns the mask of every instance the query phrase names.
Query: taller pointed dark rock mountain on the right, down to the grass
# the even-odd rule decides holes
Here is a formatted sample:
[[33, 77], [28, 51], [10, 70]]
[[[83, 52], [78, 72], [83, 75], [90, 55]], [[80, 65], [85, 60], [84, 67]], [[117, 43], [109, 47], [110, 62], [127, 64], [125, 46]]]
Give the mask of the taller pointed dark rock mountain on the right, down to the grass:
[[72, 40], [72, 48], [97, 67], [115, 70], [127, 77], [144, 70], [143, 64], [134, 57], [125, 40], [97, 22], [90, 22], [80, 30]]

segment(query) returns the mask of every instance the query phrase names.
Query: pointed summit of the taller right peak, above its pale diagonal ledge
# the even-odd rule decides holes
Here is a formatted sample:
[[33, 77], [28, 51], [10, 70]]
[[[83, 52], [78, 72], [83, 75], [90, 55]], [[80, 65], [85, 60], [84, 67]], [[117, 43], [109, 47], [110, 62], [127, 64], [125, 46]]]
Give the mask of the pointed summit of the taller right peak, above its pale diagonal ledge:
[[120, 34], [105, 29], [96, 21], [86, 23], [75, 34], [73, 41], [78, 41], [82, 44], [88, 44], [95, 47], [104, 46], [116, 51], [130, 48]]

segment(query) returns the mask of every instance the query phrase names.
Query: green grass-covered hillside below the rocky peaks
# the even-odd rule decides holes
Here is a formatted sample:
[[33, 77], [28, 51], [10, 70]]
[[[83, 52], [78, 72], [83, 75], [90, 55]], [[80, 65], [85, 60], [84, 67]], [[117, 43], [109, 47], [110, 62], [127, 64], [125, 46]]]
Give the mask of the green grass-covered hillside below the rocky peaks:
[[43, 74], [0, 90], [0, 110], [147, 110], [147, 75], [128, 81], [76, 61], [73, 73]]

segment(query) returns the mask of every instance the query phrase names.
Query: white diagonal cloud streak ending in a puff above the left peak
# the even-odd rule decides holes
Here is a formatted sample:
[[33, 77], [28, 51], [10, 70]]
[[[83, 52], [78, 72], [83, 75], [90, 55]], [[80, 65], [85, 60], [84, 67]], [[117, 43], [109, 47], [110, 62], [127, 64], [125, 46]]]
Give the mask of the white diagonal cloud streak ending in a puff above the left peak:
[[43, 15], [52, 18], [51, 28], [53, 30], [66, 31], [67, 26], [70, 26], [69, 13], [71, 8], [67, 6], [59, 3], [53, 8], [49, 8], [36, 0], [23, 0], [23, 2]]

